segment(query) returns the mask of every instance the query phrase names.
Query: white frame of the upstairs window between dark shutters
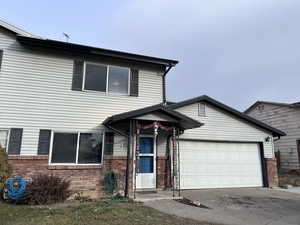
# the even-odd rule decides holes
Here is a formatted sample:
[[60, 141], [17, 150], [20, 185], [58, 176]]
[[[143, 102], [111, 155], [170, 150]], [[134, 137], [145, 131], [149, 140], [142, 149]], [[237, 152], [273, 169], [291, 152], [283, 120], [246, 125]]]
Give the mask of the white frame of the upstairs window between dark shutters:
[[[104, 91], [95, 91], [95, 90], [88, 90], [85, 88], [85, 79], [86, 79], [86, 65], [91, 64], [91, 65], [98, 65], [98, 66], [105, 66], [106, 67], [106, 88], [105, 92]], [[128, 87], [127, 87], [127, 94], [120, 94], [120, 93], [115, 93], [115, 92], [109, 92], [108, 91], [108, 85], [109, 85], [109, 71], [110, 67], [119, 67], [119, 68], [126, 68], [128, 69]], [[112, 95], [123, 95], [123, 96], [130, 96], [130, 82], [131, 82], [131, 69], [129, 67], [125, 66], [115, 66], [115, 65], [109, 65], [109, 64], [103, 64], [103, 63], [96, 63], [96, 62], [89, 62], [89, 61], [84, 61], [83, 62], [83, 81], [82, 81], [82, 91], [85, 92], [94, 92], [94, 93], [105, 93], [105, 94], [112, 94]]]

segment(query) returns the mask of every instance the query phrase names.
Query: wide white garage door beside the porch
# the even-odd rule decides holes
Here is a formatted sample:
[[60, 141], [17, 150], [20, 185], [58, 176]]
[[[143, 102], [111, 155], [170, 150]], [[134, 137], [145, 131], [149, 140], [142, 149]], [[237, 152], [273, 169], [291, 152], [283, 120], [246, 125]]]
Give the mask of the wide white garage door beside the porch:
[[259, 145], [180, 141], [182, 189], [263, 186]]

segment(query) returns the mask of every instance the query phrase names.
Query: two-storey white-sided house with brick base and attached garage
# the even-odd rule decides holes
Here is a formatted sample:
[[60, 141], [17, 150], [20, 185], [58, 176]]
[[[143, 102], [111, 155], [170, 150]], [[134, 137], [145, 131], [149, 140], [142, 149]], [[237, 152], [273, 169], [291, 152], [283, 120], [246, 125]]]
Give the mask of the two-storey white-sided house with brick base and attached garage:
[[167, 102], [177, 61], [0, 25], [0, 141], [14, 174], [58, 174], [89, 194], [107, 171], [126, 193], [277, 185], [284, 133], [208, 96]]

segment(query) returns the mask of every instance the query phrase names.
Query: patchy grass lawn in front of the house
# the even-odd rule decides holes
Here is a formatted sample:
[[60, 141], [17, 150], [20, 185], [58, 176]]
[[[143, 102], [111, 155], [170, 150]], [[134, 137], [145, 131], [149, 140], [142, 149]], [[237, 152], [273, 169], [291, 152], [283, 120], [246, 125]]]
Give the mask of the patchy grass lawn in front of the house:
[[[138, 203], [104, 202], [32, 207], [0, 202], [0, 225], [209, 225], [167, 215]], [[211, 224], [212, 225], [212, 224]]]

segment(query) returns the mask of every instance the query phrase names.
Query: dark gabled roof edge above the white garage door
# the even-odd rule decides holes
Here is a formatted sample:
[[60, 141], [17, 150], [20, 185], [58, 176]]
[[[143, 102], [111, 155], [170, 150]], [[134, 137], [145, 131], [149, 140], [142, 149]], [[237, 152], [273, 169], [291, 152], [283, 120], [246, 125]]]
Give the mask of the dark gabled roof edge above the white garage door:
[[170, 105], [168, 108], [170, 109], [177, 109], [177, 108], [180, 108], [180, 107], [183, 107], [183, 106], [187, 106], [187, 105], [190, 105], [190, 104], [194, 104], [196, 102], [200, 102], [200, 101], [204, 101], [204, 102], [208, 102], [210, 103], [211, 105], [221, 109], [221, 110], [224, 110], [226, 111], [227, 113], [241, 119], [241, 120], [244, 120], [250, 124], [253, 124], [263, 130], [266, 130], [266, 131], [269, 131], [273, 134], [273, 136], [285, 136], [286, 134], [281, 131], [281, 130], [278, 130], [274, 127], [271, 127], [269, 126], [268, 124], [265, 124], [259, 120], [256, 120], [250, 116], [247, 116], [246, 114], [234, 109], [234, 108], [231, 108], [227, 105], [224, 105], [223, 103], [221, 102], [218, 102], [217, 100], [209, 97], [209, 96], [206, 96], [206, 95], [202, 95], [202, 96], [199, 96], [199, 97], [196, 97], [196, 98], [192, 98], [192, 99], [188, 99], [188, 100], [185, 100], [185, 101], [182, 101], [182, 102], [178, 102], [178, 103], [175, 103], [175, 104], [172, 104]]

